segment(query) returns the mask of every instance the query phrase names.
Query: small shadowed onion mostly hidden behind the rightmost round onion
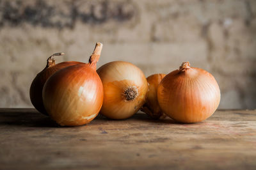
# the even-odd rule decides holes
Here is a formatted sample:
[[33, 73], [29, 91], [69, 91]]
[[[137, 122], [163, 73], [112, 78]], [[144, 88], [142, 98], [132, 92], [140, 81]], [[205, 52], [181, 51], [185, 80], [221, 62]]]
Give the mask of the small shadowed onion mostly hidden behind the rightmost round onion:
[[164, 76], [165, 74], [163, 73], [156, 73], [147, 77], [148, 94], [146, 103], [143, 105], [143, 107], [141, 107], [141, 111], [145, 112], [148, 114], [148, 116], [154, 119], [166, 117], [166, 114], [161, 111], [157, 101], [157, 88]]

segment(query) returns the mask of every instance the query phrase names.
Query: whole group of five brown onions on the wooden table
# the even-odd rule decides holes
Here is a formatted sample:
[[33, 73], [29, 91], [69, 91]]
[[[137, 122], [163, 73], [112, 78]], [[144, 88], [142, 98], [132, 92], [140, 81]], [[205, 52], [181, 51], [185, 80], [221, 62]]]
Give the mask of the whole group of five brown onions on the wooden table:
[[211, 75], [182, 63], [168, 75], [145, 77], [132, 63], [113, 61], [96, 70], [102, 43], [96, 43], [89, 63], [55, 64], [53, 54], [30, 88], [35, 108], [61, 126], [84, 125], [100, 112], [123, 120], [141, 111], [154, 119], [169, 116], [181, 123], [203, 121], [216, 111], [220, 88]]

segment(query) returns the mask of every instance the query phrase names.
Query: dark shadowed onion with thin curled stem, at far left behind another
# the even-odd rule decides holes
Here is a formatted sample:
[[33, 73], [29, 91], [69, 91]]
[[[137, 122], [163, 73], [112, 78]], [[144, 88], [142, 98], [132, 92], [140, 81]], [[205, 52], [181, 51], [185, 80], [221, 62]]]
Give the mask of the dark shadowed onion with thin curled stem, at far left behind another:
[[68, 61], [68, 62], [62, 62], [55, 65], [55, 59], [54, 56], [62, 56], [64, 55], [63, 52], [52, 54], [51, 57], [47, 59], [47, 65], [45, 66], [44, 70], [42, 72], [38, 73], [33, 80], [30, 90], [29, 90], [29, 96], [31, 103], [34, 105], [37, 111], [48, 115], [45, 111], [44, 104], [43, 104], [43, 98], [42, 98], [42, 91], [44, 88], [44, 84], [47, 81], [47, 79], [55, 72], [60, 70], [61, 68], [65, 68], [67, 66], [82, 64], [80, 62], [76, 61]]

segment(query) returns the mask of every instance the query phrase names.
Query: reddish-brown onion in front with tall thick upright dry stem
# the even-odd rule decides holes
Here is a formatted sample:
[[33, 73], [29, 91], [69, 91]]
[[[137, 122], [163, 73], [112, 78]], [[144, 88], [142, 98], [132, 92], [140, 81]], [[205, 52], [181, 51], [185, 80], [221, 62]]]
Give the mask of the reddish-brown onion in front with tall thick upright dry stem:
[[99, 113], [103, 86], [96, 72], [96, 63], [101, 50], [102, 43], [97, 43], [88, 64], [63, 68], [45, 83], [45, 109], [61, 126], [84, 125]]

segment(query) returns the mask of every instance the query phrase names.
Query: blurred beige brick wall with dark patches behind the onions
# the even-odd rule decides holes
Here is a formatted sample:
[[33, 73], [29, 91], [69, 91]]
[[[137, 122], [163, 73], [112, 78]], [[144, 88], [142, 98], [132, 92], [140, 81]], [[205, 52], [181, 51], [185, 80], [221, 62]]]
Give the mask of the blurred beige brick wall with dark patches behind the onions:
[[134, 63], [146, 76], [189, 61], [216, 78], [219, 109], [256, 108], [255, 0], [0, 0], [0, 107], [32, 107], [29, 86], [54, 52], [99, 66]]

